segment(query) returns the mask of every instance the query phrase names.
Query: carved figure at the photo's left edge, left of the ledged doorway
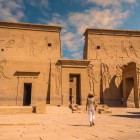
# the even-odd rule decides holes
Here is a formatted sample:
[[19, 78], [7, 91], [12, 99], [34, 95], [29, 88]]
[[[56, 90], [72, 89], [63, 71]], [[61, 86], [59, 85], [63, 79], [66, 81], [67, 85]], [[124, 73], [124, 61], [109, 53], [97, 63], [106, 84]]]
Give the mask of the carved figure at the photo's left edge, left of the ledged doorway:
[[3, 59], [0, 61], [0, 79], [4, 78], [4, 79], [10, 79], [9, 77], [7, 77], [4, 74], [4, 66], [6, 65], [7, 60]]

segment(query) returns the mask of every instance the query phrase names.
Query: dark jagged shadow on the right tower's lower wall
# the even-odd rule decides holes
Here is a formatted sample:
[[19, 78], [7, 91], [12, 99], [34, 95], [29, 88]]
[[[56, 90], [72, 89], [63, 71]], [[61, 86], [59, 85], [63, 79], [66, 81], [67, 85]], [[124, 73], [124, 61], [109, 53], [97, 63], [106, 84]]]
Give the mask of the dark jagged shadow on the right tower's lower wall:
[[[103, 82], [101, 79], [100, 84], [100, 102], [101, 104], [106, 104], [110, 107], [121, 107], [123, 106], [122, 98], [122, 81], [119, 83], [118, 87], [115, 84], [116, 75], [113, 76], [109, 83], [108, 88], [103, 88]], [[103, 90], [104, 89], [104, 90]]]

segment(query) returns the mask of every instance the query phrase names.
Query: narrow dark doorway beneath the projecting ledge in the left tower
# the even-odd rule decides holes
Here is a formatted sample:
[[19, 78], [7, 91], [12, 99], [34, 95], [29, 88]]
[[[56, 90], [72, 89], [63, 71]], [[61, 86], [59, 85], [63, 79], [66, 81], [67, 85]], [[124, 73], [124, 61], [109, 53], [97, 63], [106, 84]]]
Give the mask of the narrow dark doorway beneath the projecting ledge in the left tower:
[[29, 106], [31, 104], [32, 83], [24, 83], [23, 105]]

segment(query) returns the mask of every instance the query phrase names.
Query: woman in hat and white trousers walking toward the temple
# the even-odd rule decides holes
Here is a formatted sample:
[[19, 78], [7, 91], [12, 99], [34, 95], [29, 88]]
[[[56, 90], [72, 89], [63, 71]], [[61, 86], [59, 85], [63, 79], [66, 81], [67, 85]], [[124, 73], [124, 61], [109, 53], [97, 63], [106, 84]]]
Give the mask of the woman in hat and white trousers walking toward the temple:
[[97, 105], [96, 105], [95, 97], [92, 92], [89, 92], [88, 97], [87, 97], [87, 102], [86, 102], [86, 111], [88, 108], [90, 126], [95, 125], [94, 120], [95, 120], [96, 107]]

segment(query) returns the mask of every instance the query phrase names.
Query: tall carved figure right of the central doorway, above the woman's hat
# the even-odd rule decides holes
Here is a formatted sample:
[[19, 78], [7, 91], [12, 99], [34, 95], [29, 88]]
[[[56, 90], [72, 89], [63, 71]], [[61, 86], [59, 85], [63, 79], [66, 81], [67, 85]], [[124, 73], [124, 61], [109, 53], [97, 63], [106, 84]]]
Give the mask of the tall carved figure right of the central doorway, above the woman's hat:
[[94, 91], [94, 85], [95, 85], [95, 82], [96, 79], [95, 79], [95, 74], [94, 74], [94, 69], [93, 69], [93, 64], [89, 64], [88, 67], [87, 67], [87, 73], [88, 73], [88, 77], [89, 77], [89, 86], [90, 86], [90, 91], [95, 94], [95, 91]]

